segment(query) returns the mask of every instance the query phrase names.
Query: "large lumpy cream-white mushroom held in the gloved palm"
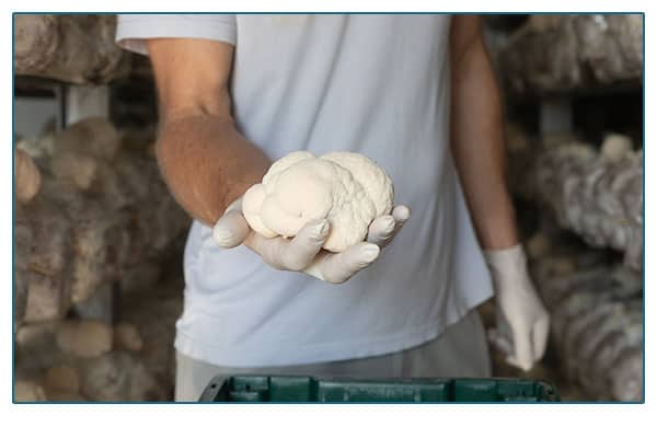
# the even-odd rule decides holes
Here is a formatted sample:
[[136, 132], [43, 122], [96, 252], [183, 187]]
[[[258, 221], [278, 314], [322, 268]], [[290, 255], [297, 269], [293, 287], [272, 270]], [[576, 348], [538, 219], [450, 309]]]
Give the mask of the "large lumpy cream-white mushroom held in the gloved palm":
[[242, 210], [266, 238], [290, 238], [313, 220], [327, 219], [323, 247], [341, 252], [365, 240], [370, 222], [392, 210], [390, 176], [365, 155], [332, 152], [320, 158], [292, 152], [276, 161], [261, 184], [244, 194]]

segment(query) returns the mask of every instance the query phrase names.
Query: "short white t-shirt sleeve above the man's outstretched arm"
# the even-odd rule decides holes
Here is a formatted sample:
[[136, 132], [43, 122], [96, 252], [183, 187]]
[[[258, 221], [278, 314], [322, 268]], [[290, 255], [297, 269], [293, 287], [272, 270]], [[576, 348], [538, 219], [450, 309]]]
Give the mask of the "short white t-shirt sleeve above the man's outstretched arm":
[[116, 43], [131, 51], [148, 55], [145, 39], [203, 38], [234, 45], [235, 15], [227, 14], [119, 14]]

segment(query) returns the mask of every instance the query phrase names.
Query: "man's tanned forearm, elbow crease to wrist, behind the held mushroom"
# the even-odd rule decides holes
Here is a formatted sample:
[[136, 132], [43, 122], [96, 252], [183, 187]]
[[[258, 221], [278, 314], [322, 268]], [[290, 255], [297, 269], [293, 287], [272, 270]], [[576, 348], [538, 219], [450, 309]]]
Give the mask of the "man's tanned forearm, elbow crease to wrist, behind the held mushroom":
[[157, 143], [162, 175], [176, 200], [195, 219], [212, 226], [269, 166], [230, 118], [211, 114], [165, 117]]

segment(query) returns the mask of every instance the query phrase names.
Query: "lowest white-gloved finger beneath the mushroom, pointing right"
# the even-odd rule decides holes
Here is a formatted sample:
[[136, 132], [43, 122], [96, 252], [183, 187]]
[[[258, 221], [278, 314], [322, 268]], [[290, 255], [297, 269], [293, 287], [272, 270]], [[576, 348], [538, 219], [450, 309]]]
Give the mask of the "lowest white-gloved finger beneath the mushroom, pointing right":
[[379, 246], [373, 243], [357, 243], [342, 253], [326, 254], [314, 264], [321, 278], [328, 283], [344, 283], [354, 274], [368, 266], [379, 257]]

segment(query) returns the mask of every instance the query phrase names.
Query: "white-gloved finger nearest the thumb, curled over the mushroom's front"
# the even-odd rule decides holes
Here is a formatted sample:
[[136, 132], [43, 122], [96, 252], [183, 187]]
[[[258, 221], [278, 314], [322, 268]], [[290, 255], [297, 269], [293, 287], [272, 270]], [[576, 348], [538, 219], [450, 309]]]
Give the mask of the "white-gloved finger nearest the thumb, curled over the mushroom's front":
[[326, 219], [314, 220], [303, 227], [285, 246], [283, 265], [289, 270], [307, 268], [328, 237], [331, 226]]

